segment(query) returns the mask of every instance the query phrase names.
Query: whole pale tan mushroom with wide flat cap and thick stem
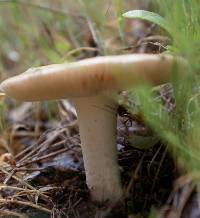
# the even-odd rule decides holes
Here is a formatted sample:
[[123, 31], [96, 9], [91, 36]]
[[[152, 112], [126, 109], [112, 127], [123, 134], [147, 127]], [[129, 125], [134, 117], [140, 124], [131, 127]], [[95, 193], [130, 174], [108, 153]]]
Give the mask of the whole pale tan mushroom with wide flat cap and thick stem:
[[31, 68], [3, 81], [0, 90], [22, 101], [72, 98], [78, 114], [87, 185], [92, 199], [122, 197], [116, 149], [117, 104], [113, 94], [143, 82], [170, 81], [170, 55], [104, 56]]

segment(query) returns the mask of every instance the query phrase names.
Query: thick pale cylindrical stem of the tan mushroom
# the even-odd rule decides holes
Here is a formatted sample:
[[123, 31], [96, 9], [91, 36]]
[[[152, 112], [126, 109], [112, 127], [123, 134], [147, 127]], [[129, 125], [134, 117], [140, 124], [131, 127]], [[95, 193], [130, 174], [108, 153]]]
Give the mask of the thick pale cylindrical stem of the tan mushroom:
[[92, 200], [116, 202], [122, 196], [116, 147], [117, 105], [103, 95], [73, 100]]

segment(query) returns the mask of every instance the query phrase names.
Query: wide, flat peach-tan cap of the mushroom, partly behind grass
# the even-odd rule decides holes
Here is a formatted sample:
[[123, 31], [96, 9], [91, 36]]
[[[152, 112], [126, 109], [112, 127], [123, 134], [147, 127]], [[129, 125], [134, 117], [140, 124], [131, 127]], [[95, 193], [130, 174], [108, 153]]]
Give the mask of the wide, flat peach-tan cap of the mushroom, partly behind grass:
[[166, 83], [170, 81], [174, 63], [182, 65], [182, 62], [182, 58], [155, 54], [95, 57], [30, 68], [3, 81], [0, 90], [22, 101], [86, 97], [121, 91], [144, 82]]

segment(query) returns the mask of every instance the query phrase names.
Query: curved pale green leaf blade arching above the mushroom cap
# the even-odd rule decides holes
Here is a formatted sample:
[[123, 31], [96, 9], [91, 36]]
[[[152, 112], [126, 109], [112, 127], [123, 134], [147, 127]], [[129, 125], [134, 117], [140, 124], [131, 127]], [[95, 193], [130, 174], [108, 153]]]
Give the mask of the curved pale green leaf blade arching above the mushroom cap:
[[169, 23], [165, 18], [161, 17], [159, 14], [144, 10], [133, 10], [124, 13], [123, 16], [127, 18], [139, 18], [150, 21], [154, 24], [157, 24], [158, 26], [166, 30], [168, 33], [171, 33]]

